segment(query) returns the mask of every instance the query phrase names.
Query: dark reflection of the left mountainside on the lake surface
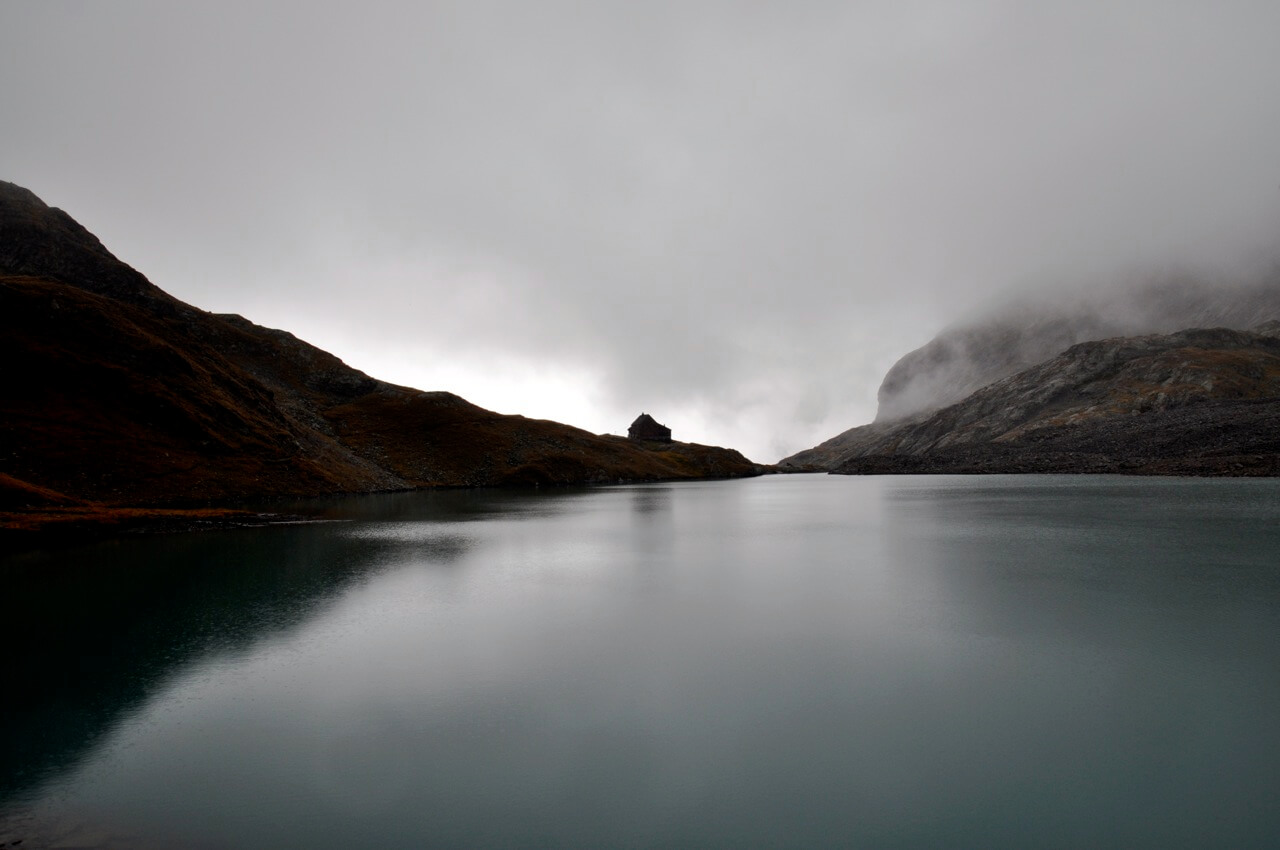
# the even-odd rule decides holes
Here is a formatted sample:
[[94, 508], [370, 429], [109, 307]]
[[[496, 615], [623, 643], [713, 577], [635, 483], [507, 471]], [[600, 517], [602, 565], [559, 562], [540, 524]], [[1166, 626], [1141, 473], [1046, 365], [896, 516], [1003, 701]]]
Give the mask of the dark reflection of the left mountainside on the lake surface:
[[[343, 517], [483, 517], [507, 498], [389, 498]], [[497, 503], [497, 507], [495, 507]], [[119, 539], [0, 562], [6, 600], [0, 804], [72, 769], [175, 673], [297, 629], [389, 563], [448, 566], [467, 535], [431, 526], [320, 524]]]

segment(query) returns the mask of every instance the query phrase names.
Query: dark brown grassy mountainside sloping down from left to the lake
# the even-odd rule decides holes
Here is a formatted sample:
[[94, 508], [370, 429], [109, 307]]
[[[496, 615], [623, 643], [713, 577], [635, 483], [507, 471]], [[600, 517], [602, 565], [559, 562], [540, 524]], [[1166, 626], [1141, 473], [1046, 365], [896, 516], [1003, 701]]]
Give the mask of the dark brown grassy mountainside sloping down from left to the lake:
[[759, 471], [732, 449], [596, 435], [376, 380], [173, 298], [12, 183], [0, 358], [0, 511]]

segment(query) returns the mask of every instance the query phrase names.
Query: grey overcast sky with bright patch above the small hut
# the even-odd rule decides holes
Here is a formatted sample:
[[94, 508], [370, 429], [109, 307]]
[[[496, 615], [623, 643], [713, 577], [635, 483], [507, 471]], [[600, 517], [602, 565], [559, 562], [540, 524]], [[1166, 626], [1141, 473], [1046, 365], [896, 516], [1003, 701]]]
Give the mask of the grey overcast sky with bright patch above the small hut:
[[1280, 242], [1280, 3], [18, 3], [0, 179], [378, 378], [759, 461], [975, 303]]

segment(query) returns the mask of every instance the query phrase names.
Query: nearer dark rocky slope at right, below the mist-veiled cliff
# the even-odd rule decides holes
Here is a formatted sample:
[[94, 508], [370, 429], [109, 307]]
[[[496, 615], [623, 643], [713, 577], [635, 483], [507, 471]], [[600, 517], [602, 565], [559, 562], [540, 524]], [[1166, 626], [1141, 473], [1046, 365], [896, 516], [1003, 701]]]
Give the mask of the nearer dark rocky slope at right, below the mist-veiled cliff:
[[863, 429], [832, 469], [1276, 475], [1276, 328], [1073, 346], [959, 403]]

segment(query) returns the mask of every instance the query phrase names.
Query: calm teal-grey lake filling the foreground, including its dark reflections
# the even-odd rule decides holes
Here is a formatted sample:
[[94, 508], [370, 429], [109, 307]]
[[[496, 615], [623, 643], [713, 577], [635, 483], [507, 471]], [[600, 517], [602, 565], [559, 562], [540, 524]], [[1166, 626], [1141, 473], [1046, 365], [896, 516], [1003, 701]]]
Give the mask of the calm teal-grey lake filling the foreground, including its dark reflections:
[[0, 563], [0, 841], [1280, 846], [1280, 481], [310, 509]]

